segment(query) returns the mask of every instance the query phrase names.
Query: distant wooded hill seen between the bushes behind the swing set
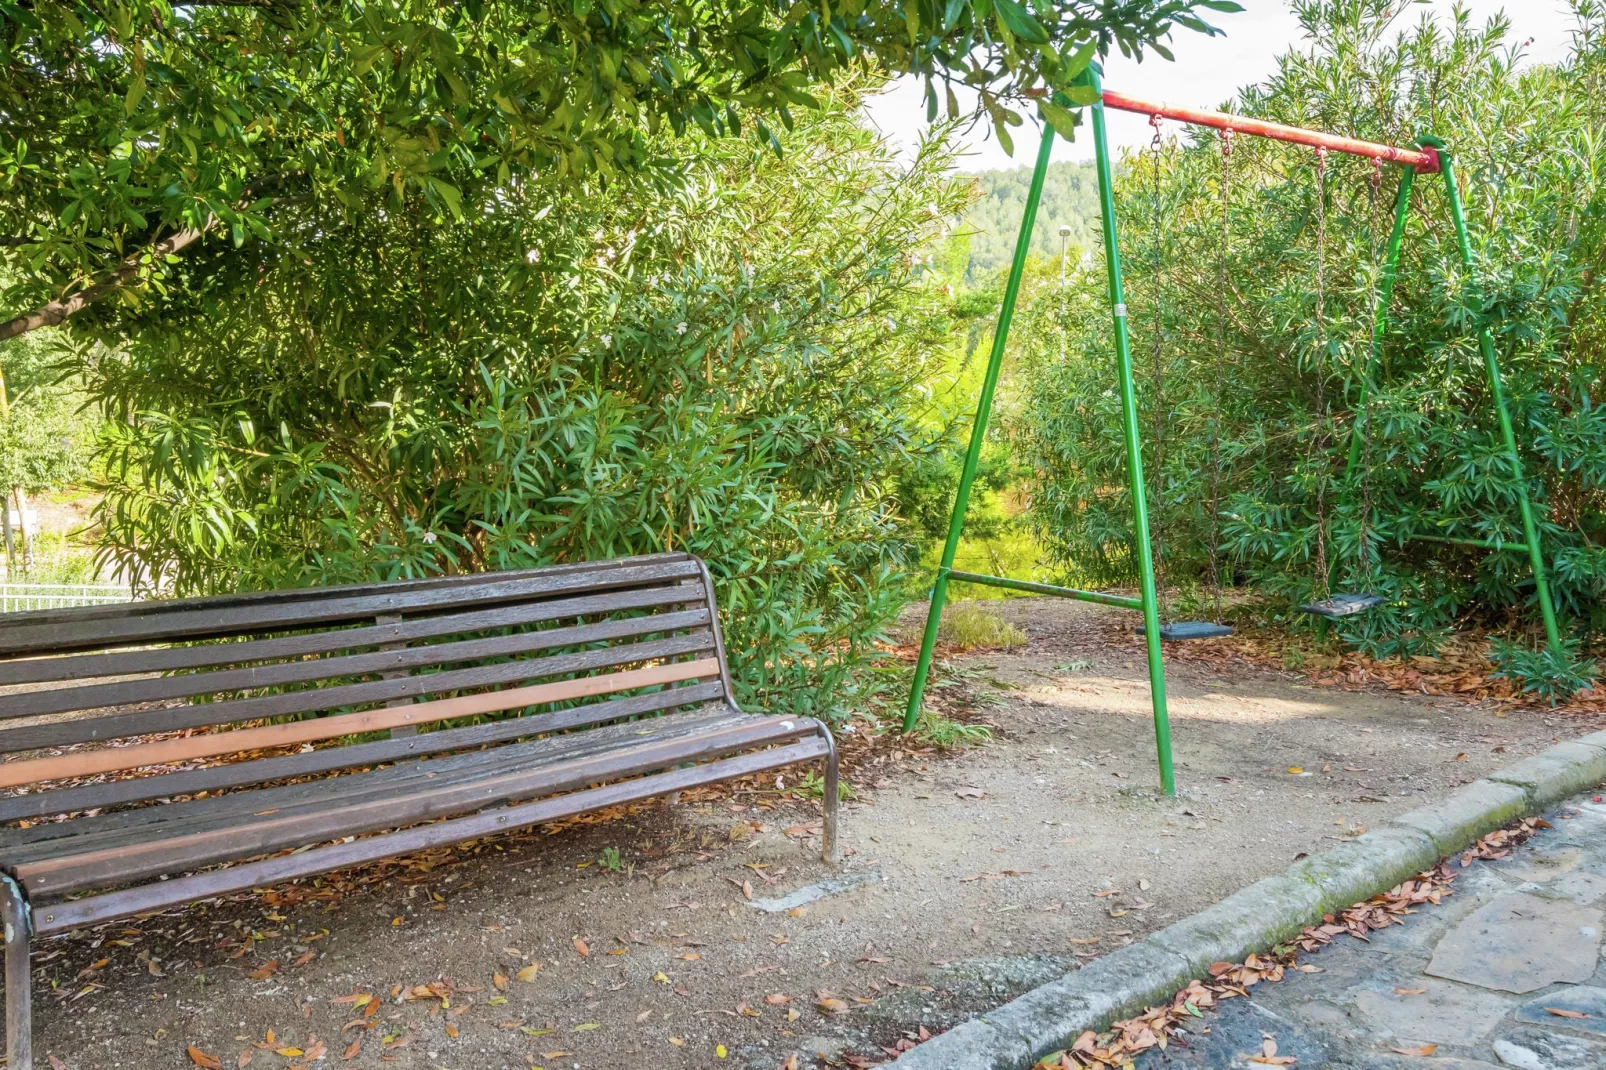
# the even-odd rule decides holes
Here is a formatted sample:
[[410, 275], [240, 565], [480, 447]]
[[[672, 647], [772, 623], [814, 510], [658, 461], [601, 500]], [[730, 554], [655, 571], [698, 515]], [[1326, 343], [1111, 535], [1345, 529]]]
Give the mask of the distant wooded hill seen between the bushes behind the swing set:
[[[970, 236], [967, 280], [980, 283], [989, 273], [1007, 268], [1015, 254], [1015, 235], [1020, 233], [1020, 215], [1026, 207], [1031, 167], [980, 170], [975, 180], [981, 198], [965, 220], [975, 231]], [[1046, 260], [1060, 255], [1062, 225], [1071, 228], [1071, 246], [1094, 247], [1099, 238], [1099, 178], [1090, 162], [1049, 164], [1042, 204], [1037, 207], [1037, 225], [1031, 235], [1033, 255]]]

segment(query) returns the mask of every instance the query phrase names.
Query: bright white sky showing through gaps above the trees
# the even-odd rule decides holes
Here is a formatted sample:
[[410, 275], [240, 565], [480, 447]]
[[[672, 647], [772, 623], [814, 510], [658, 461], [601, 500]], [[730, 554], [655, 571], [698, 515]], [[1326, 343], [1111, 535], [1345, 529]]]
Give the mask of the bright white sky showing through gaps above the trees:
[[[1227, 32], [1225, 37], [1204, 37], [1179, 29], [1171, 40], [1176, 63], [1168, 63], [1148, 53], [1142, 64], [1119, 53], [1105, 61], [1105, 85], [1127, 93], [1174, 104], [1216, 108], [1243, 85], [1264, 80], [1272, 74], [1277, 56], [1299, 43], [1299, 24], [1283, 0], [1238, 0], [1238, 14], [1204, 11], [1206, 21]], [[1551, 63], [1567, 53], [1572, 16], [1566, 0], [1461, 0], [1471, 10], [1474, 22], [1505, 11], [1511, 18], [1513, 42], [1532, 39], [1527, 58], [1535, 63]], [[1429, 0], [1423, 10], [1447, 14], [1452, 0]], [[1402, 16], [1399, 26], [1413, 24], [1416, 13]], [[964, 101], [960, 101], [964, 103]], [[899, 79], [890, 90], [867, 104], [870, 120], [903, 149], [919, 143], [925, 127], [925, 101], [922, 85], [914, 79]], [[1152, 137], [1148, 119], [1127, 112], [1107, 112], [1110, 141], [1116, 153], [1123, 148], [1147, 145]], [[960, 156], [960, 170], [988, 170], [994, 167], [1020, 167], [1031, 164], [1037, 148], [1033, 119], [1012, 132], [1013, 159], [993, 138], [988, 124], [978, 124], [967, 138], [970, 154]], [[1078, 140], [1055, 141], [1054, 159], [1092, 159], [1092, 135], [1078, 130]]]

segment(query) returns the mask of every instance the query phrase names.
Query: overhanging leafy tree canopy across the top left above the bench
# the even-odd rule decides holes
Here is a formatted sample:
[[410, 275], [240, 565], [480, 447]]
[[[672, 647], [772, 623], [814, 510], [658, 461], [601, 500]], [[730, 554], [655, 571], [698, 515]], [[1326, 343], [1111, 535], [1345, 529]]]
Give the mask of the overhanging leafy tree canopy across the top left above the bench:
[[[207, 235], [320, 210], [442, 218], [488, 188], [671, 180], [655, 132], [752, 132], [877, 67], [980, 92], [999, 137], [1097, 48], [1140, 53], [1225, 0], [37, 0], [0, 5], [0, 341], [108, 297], [161, 302]], [[952, 93], [949, 108], [957, 109]], [[1037, 104], [1062, 125], [1070, 112]], [[217, 262], [217, 257], [212, 257]]]

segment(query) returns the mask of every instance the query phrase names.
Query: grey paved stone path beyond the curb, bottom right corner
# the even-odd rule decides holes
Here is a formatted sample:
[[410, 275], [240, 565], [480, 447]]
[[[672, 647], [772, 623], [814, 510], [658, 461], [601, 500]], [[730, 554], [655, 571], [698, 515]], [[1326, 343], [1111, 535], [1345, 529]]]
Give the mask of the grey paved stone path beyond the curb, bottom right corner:
[[[1555, 827], [1460, 869], [1455, 893], [1370, 943], [1341, 937], [1251, 999], [1229, 999], [1139, 1070], [1606, 1070], [1606, 803], [1580, 795]], [[1563, 1014], [1556, 1014], [1556, 1012]], [[1208, 1028], [1208, 1033], [1204, 1031]]]

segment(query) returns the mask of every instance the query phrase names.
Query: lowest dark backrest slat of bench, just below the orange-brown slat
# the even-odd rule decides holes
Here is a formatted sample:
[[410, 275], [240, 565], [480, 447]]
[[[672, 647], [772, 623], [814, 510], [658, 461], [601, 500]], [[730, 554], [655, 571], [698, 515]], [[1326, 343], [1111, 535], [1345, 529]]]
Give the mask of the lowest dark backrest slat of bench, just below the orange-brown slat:
[[[724, 696], [719, 683], [702, 683], [689, 688], [668, 688], [649, 691], [647, 694], [630, 696], [628, 699], [612, 699], [609, 702], [593, 702], [577, 705], [556, 713], [528, 713], [525, 717], [490, 721], [488, 725], [472, 725], [469, 728], [450, 728], [443, 731], [424, 733], [414, 739], [379, 739], [363, 744], [344, 744], [320, 747], [318, 750], [291, 753], [279, 758], [257, 758], [252, 762], [230, 762], [204, 770], [183, 770], [178, 773], [162, 773], [156, 776], [138, 776], [124, 781], [108, 781], [101, 784], [84, 784], [77, 787], [61, 787], [55, 790], [31, 792], [27, 795], [11, 795], [0, 798], [0, 821], [16, 821], [18, 818], [42, 818], [56, 813], [72, 813], [77, 810], [93, 810], [100, 807], [119, 807], [125, 803], [145, 802], [149, 798], [165, 798], [173, 795], [193, 795], [196, 792], [214, 792], [228, 787], [246, 787], [268, 781], [310, 776], [315, 773], [331, 773], [360, 765], [379, 765], [397, 758], [443, 753], [467, 747], [483, 747], [488, 744], [520, 739], [541, 733], [569, 731], [604, 725], [623, 717], [641, 713], [657, 713], [678, 705], [695, 705], [713, 702]], [[53, 823], [71, 824], [71, 821]]]

